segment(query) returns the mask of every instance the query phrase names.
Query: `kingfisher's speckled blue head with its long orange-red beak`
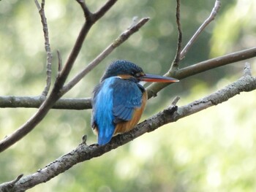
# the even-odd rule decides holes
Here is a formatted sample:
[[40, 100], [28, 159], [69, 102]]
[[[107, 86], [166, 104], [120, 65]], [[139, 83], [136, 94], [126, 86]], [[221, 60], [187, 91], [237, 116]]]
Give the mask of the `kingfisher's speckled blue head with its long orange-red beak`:
[[109, 77], [121, 77], [122, 79], [132, 79], [135, 82], [178, 82], [172, 77], [162, 77], [157, 74], [145, 74], [140, 66], [133, 64], [131, 61], [118, 60], [108, 66], [100, 82]]

